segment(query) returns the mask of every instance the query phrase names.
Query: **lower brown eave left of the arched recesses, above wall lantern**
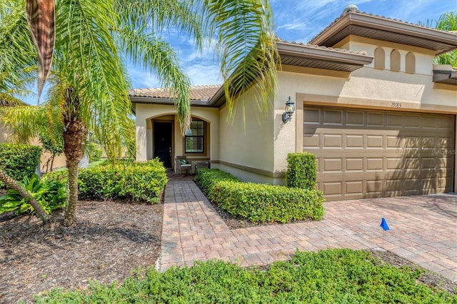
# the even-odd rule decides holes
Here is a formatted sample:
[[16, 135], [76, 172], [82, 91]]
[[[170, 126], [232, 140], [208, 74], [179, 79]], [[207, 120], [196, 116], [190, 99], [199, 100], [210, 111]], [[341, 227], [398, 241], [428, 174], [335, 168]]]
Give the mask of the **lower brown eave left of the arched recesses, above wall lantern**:
[[372, 56], [326, 47], [277, 41], [281, 64], [334, 71], [355, 71], [371, 64]]

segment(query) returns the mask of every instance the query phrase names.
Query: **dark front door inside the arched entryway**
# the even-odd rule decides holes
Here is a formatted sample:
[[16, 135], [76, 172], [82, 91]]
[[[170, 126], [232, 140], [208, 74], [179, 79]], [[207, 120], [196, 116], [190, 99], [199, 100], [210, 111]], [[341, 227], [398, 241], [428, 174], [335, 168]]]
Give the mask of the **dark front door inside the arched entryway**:
[[158, 157], [166, 168], [171, 168], [172, 123], [154, 122], [154, 157]]

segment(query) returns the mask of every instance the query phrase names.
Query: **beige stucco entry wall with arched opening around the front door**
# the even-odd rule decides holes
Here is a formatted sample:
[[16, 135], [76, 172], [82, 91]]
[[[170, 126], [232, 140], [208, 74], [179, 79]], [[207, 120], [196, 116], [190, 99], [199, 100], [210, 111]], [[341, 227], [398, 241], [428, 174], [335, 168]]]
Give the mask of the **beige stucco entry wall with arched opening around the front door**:
[[[182, 155], [183, 137], [176, 118], [176, 106], [150, 103], [136, 103], [136, 160], [146, 161], [153, 158], [153, 119], [174, 121], [174, 155]], [[206, 157], [219, 159], [219, 109], [207, 107], [191, 107], [193, 118], [209, 123], [209, 155]], [[189, 158], [192, 158], [189, 156]]]

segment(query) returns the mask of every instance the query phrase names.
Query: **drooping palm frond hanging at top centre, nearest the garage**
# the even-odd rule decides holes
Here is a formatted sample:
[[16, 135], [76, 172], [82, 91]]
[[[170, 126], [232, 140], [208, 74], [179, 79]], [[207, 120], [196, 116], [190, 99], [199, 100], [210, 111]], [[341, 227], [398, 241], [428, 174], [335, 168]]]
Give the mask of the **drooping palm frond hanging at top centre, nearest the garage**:
[[277, 49], [268, 0], [197, 1], [206, 28], [216, 33], [226, 102], [233, 108], [244, 91], [252, 89], [261, 110], [268, 110], [276, 88]]

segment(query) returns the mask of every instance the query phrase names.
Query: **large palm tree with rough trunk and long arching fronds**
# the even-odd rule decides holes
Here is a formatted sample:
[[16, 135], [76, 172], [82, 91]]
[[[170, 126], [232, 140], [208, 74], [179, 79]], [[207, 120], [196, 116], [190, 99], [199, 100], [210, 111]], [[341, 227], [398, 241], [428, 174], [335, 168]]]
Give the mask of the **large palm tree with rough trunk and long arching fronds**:
[[[65, 225], [75, 219], [77, 165], [88, 129], [110, 158], [119, 156], [122, 144], [134, 151], [126, 59], [156, 72], [162, 85], [176, 93], [181, 131], [189, 127], [190, 81], [161, 38], [163, 29], [175, 27], [194, 37], [199, 47], [216, 35], [229, 108], [248, 87], [257, 88], [259, 103], [268, 103], [276, 84], [276, 45], [267, 0], [58, 0], [56, 12], [51, 88], [44, 106], [57, 110], [53, 120], [64, 127], [69, 170]], [[36, 55], [31, 56], [34, 44], [26, 32], [23, 1], [0, 4], [0, 21], [0, 37], [8, 37], [0, 41], [0, 89], [9, 93], [29, 84], [30, 75], [24, 71], [36, 73]]]

